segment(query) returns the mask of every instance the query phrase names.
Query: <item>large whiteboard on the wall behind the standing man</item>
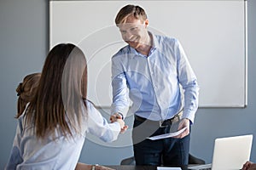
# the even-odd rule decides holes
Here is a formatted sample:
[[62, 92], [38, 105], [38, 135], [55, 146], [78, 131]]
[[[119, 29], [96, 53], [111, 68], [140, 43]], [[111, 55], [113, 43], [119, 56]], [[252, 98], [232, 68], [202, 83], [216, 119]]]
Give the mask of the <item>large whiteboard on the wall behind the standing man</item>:
[[88, 99], [111, 105], [111, 57], [125, 46], [114, 18], [126, 4], [146, 10], [149, 31], [183, 44], [201, 87], [200, 107], [247, 105], [246, 1], [50, 1], [49, 48], [73, 42], [84, 51]]

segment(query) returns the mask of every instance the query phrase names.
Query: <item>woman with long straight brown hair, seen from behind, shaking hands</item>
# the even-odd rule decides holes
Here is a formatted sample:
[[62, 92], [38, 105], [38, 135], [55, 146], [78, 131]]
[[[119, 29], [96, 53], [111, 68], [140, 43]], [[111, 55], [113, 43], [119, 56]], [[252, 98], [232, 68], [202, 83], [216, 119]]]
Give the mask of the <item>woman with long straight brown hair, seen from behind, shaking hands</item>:
[[117, 139], [125, 122], [109, 124], [86, 94], [83, 52], [73, 44], [56, 45], [35, 96], [18, 119], [6, 169], [75, 169], [87, 132], [106, 142]]

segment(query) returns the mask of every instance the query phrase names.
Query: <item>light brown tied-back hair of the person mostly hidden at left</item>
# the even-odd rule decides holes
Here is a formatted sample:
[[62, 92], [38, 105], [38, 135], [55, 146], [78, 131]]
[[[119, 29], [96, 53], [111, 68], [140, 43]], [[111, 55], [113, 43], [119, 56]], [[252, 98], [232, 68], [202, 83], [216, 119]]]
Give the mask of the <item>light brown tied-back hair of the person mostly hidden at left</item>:
[[19, 118], [26, 108], [26, 104], [32, 101], [32, 98], [36, 94], [38, 83], [41, 77], [41, 73], [32, 73], [24, 77], [23, 82], [20, 82], [16, 88], [18, 102], [17, 102], [17, 115], [15, 118]]

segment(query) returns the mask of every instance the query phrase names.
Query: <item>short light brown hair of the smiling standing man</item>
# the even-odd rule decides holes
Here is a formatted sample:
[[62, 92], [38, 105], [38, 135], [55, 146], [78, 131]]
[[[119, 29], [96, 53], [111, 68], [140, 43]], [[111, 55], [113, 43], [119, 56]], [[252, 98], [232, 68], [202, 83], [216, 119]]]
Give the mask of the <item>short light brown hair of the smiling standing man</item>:
[[119, 10], [119, 13], [115, 17], [115, 24], [119, 25], [125, 23], [127, 17], [130, 15], [141, 21], [147, 20], [148, 18], [143, 8], [129, 4]]

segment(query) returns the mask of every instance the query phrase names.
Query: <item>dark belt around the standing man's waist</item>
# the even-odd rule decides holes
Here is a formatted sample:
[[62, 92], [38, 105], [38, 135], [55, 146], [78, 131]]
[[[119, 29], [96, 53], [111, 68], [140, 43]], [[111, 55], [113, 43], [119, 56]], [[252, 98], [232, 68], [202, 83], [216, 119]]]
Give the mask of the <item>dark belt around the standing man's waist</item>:
[[167, 127], [167, 126], [171, 126], [172, 123], [174, 122], [178, 122], [180, 119], [181, 119], [181, 116], [183, 114], [183, 111], [179, 111], [175, 116], [173, 116], [171, 119], [166, 119], [164, 121], [152, 121], [152, 120], [149, 120], [147, 118], [144, 118], [144, 117], [141, 117], [141, 116], [137, 116], [135, 115], [134, 118], [139, 121], [139, 122], [152, 122], [152, 123], [159, 123], [159, 127]]

